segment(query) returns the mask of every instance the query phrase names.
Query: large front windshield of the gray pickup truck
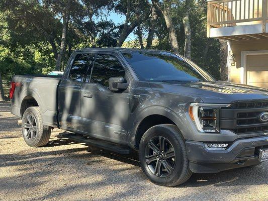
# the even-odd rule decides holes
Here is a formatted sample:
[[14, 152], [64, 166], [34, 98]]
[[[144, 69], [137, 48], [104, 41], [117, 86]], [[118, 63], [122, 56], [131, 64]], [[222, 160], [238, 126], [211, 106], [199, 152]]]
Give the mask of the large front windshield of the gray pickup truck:
[[141, 81], [214, 81], [190, 60], [169, 52], [134, 51], [123, 53]]

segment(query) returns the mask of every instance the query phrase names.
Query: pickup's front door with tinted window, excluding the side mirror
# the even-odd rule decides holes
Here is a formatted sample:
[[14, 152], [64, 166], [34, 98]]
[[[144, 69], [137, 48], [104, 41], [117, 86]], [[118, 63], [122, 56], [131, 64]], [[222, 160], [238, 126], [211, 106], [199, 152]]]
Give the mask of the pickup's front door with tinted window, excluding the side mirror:
[[96, 54], [88, 82], [81, 89], [82, 130], [89, 135], [118, 143], [127, 143], [129, 116], [128, 90], [112, 92], [110, 77], [125, 77], [122, 62], [114, 54]]

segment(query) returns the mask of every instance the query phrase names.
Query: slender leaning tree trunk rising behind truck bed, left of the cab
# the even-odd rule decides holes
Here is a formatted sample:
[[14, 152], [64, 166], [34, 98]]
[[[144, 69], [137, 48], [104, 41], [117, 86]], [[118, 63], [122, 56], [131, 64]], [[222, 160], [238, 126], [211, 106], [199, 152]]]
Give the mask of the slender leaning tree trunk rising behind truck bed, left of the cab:
[[57, 60], [56, 60], [56, 67], [55, 70], [56, 71], [60, 71], [60, 63], [61, 63], [61, 59], [64, 53], [64, 49], [65, 49], [65, 43], [66, 43], [66, 33], [67, 33], [67, 20], [68, 20], [68, 15], [69, 15], [69, 7], [70, 7], [70, 3], [71, 0], [68, 0], [67, 2], [67, 6], [65, 8], [65, 11], [62, 15], [62, 34], [61, 34], [61, 41], [60, 41], [60, 49], [59, 49], [59, 53], [57, 56]]

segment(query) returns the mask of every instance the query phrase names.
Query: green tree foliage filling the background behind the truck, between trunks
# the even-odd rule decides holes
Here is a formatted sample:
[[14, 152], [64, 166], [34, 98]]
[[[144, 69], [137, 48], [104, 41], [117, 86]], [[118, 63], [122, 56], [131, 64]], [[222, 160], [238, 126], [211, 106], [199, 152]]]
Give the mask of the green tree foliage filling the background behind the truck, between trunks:
[[[130, 24], [150, 10], [149, 0], [131, 1]], [[165, 0], [167, 1], [167, 0]], [[0, 71], [4, 80], [14, 74], [48, 73], [55, 68], [55, 59], [60, 47], [62, 10], [65, 0], [6, 0], [0, 2]], [[205, 0], [190, 2], [192, 28], [192, 60], [216, 79], [219, 72], [219, 42], [206, 37]], [[161, 1], [160, 1], [161, 3]], [[185, 1], [170, 0], [170, 14], [176, 30], [181, 54], [184, 53], [185, 33], [183, 18]], [[127, 0], [81, 0], [73, 1], [66, 38], [66, 50], [62, 64], [66, 64], [71, 52], [84, 47], [115, 47], [123, 25], [107, 20], [109, 12], [127, 14]], [[170, 50], [168, 32], [163, 16], [158, 12], [155, 39], [152, 48]], [[146, 43], [149, 20], [141, 28]], [[133, 33], [136, 33], [134, 30]], [[124, 47], [138, 47], [138, 41], [124, 43]]]

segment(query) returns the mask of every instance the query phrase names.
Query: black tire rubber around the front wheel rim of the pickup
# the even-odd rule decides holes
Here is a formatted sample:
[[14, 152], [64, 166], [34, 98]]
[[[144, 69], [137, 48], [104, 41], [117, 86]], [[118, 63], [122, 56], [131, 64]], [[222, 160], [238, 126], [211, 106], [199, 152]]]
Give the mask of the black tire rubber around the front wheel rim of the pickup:
[[[176, 133], [176, 135], [179, 139], [181, 138], [181, 136], [179, 136], [180, 135], [179, 133]], [[175, 152], [174, 170], [169, 176], [163, 178], [154, 175], [148, 168], [145, 160], [145, 148], [147, 146], [147, 143], [150, 139], [152, 139], [155, 136], [165, 137], [171, 143]], [[185, 146], [183, 139], [181, 138], [181, 140], [179, 140], [178, 138], [175, 137], [173, 130], [168, 129], [166, 127], [161, 127], [160, 125], [148, 129], [143, 135], [139, 145], [139, 160], [143, 172], [148, 176], [148, 178], [153, 183], [158, 185], [169, 185], [170, 183], [173, 183], [176, 180], [178, 180], [182, 172], [184, 171], [183, 169], [184, 163], [188, 162], [188, 160], [187, 159], [186, 159], [187, 161], [185, 160], [182, 150], [182, 146]]]

